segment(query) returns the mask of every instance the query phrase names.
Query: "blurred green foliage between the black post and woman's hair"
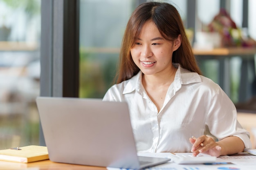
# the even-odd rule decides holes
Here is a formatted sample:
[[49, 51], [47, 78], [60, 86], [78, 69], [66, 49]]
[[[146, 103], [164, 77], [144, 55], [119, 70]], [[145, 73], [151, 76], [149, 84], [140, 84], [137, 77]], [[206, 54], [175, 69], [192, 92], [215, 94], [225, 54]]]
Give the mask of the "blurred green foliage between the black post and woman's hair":
[[80, 50], [79, 97], [103, 98], [113, 85], [118, 54]]

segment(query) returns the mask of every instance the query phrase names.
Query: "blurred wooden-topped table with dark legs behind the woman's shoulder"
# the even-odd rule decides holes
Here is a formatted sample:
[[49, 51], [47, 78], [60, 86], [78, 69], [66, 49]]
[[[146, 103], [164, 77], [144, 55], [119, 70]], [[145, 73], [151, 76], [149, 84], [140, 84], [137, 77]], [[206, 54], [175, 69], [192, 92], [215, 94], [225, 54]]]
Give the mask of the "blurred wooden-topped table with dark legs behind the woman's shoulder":
[[[225, 93], [231, 96], [231, 78], [230, 78], [230, 59], [231, 57], [240, 57], [242, 59], [242, 65], [240, 69], [240, 88], [239, 88], [239, 102], [245, 102], [252, 95], [251, 84], [252, 78], [249, 75], [255, 77], [255, 64], [254, 57], [256, 54], [256, 48], [220, 48], [220, 49], [193, 49], [193, 53], [198, 59], [199, 66], [204, 74], [203, 62], [205, 60], [218, 60], [219, 62], [219, 76], [218, 84], [225, 91]], [[205, 75], [207, 77], [207, 75]]]

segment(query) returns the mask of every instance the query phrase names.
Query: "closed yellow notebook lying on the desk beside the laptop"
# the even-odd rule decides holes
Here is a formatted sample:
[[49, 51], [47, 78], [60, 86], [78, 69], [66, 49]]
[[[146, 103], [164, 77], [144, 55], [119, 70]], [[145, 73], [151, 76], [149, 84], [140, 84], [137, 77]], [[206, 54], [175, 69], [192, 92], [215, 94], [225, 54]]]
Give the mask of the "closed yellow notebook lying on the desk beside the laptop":
[[17, 149], [0, 150], [1, 161], [29, 163], [49, 159], [46, 146], [24, 146]]

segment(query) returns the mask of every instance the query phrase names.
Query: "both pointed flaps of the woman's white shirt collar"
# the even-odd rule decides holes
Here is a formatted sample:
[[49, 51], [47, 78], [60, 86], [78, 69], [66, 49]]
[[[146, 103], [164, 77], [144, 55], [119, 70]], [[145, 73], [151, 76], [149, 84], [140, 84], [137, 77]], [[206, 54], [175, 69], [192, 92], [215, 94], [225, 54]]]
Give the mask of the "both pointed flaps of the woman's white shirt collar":
[[[182, 68], [180, 64], [174, 64], [174, 66], [177, 66], [177, 71], [175, 73], [173, 81], [175, 91], [178, 91], [181, 88], [182, 84], [202, 82], [202, 79], [200, 75], [198, 75], [198, 73], [188, 71], [185, 68]], [[144, 92], [144, 87], [142, 86], [141, 78], [142, 72], [139, 71], [137, 75], [127, 80], [127, 84], [124, 87], [123, 94], [131, 93], [132, 91], [135, 91], [135, 89], [137, 92], [142, 94]]]

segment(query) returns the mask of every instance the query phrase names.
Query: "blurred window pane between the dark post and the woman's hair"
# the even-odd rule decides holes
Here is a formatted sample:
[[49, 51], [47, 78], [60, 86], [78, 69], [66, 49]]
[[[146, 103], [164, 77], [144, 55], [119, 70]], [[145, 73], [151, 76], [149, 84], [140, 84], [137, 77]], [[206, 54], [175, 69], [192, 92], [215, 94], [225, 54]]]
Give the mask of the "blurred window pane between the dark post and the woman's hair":
[[102, 98], [113, 84], [126, 23], [137, 0], [80, 0], [79, 97]]

